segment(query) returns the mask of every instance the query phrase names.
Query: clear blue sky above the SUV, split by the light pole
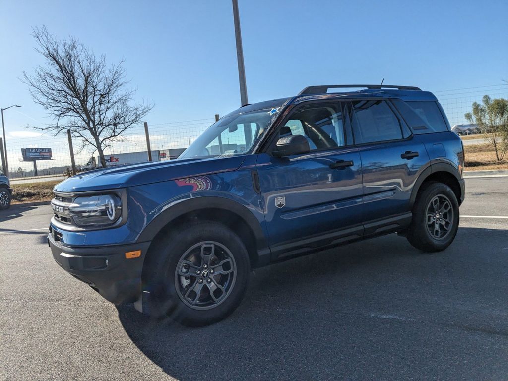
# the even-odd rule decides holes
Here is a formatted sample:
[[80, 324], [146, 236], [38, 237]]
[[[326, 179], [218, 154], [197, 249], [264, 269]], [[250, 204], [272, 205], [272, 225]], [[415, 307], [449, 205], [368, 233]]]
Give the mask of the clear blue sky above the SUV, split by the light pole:
[[[417, 85], [439, 91], [508, 79], [508, 2], [239, 0], [249, 102], [311, 84]], [[2, 1], [0, 105], [7, 131], [47, 122], [18, 77], [42, 63], [31, 27], [73, 35], [124, 67], [149, 124], [239, 106], [232, 6], [214, 1]], [[460, 111], [461, 112], [461, 111]], [[26, 130], [24, 130], [26, 131]]]

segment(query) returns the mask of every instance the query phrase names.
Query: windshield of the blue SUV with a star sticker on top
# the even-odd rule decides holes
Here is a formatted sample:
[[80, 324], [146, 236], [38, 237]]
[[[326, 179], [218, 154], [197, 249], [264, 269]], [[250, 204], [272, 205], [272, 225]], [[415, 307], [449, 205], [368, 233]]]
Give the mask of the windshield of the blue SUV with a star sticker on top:
[[278, 109], [232, 113], [212, 124], [179, 158], [244, 155], [261, 138]]

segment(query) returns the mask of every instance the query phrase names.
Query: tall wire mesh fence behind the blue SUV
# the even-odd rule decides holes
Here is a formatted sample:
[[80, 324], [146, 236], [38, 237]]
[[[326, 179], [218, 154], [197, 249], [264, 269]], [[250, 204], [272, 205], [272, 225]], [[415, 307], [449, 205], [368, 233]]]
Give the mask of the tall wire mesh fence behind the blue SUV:
[[[473, 88], [452, 89], [434, 92], [450, 120], [450, 124], [468, 123], [464, 117], [471, 111], [473, 102], [482, 102], [482, 97], [508, 98], [508, 85], [491, 85]], [[206, 128], [215, 121], [214, 117], [184, 120], [160, 124], [148, 123], [150, 146], [152, 151], [159, 151], [160, 160], [170, 160], [178, 152], [187, 148]], [[35, 135], [35, 134], [34, 134]], [[39, 137], [7, 139], [7, 157], [11, 178], [35, 176], [32, 162], [22, 161], [21, 149], [37, 147], [51, 148], [52, 160], [37, 161], [38, 176], [62, 175], [71, 168], [71, 153], [66, 136], [53, 137], [44, 134]], [[74, 156], [78, 170], [97, 157], [89, 146], [81, 146], [74, 139]], [[112, 142], [105, 149], [105, 155], [115, 155], [129, 152], [146, 152], [146, 136], [143, 127], [131, 130], [121, 141]], [[97, 160], [97, 159], [96, 159]]]

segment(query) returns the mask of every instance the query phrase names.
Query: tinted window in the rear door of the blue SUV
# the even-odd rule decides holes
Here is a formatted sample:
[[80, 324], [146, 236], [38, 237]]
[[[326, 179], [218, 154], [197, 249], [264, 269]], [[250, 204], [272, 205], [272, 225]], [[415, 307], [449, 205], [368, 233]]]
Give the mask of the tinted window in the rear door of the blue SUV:
[[353, 110], [356, 144], [402, 139], [399, 119], [386, 101], [355, 101]]

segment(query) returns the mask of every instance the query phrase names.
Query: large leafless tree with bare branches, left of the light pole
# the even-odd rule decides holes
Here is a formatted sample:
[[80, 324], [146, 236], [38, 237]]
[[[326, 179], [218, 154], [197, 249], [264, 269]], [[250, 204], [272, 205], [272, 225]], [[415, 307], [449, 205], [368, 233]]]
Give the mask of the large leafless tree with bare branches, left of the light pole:
[[58, 40], [45, 26], [34, 28], [33, 36], [46, 65], [37, 67], [34, 75], [23, 72], [22, 81], [54, 121], [31, 128], [55, 135], [70, 130], [83, 146], [97, 149], [106, 167], [104, 149], [121, 139], [153, 106], [133, 102], [136, 90], [126, 88], [129, 82], [123, 60], [108, 67], [103, 55], [97, 57], [74, 37]]

